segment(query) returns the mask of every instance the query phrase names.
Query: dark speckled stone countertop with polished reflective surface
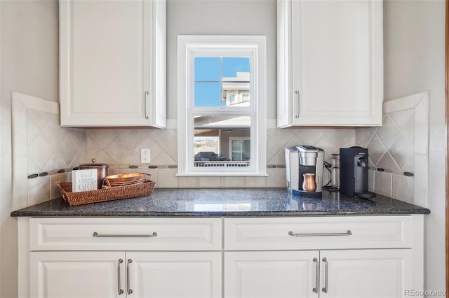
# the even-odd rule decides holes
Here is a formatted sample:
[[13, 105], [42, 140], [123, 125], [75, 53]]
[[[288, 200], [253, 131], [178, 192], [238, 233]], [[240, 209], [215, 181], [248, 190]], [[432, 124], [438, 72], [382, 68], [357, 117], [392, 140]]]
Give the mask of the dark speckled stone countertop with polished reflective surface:
[[35, 217], [255, 217], [302, 215], [404, 215], [430, 210], [384, 197], [358, 199], [323, 191], [318, 199], [288, 194], [286, 188], [154, 189], [148, 197], [69, 206], [62, 198], [13, 211]]

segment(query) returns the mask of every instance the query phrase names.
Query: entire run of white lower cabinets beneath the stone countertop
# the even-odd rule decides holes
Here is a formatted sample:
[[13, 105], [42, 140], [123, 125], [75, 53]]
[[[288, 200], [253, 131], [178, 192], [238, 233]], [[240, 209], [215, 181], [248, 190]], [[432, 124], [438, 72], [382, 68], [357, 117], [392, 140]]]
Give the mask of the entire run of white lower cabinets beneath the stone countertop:
[[424, 215], [18, 218], [18, 231], [20, 298], [406, 298], [424, 288]]

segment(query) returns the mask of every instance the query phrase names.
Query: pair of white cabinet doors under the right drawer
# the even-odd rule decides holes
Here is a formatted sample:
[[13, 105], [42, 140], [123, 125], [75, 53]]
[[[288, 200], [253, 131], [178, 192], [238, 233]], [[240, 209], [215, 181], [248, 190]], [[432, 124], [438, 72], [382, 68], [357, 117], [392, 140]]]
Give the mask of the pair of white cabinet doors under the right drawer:
[[225, 298], [403, 297], [412, 264], [410, 249], [226, 252]]

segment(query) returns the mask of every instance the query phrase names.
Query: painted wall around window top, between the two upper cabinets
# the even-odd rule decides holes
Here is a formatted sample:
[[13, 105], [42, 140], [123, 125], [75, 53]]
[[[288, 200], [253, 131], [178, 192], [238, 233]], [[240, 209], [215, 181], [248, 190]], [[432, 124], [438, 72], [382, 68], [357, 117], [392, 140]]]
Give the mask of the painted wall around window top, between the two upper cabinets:
[[276, 120], [276, 1], [168, 0], [167, 118], [176, 119], [177, 35], [267, 36], [267, 118]]

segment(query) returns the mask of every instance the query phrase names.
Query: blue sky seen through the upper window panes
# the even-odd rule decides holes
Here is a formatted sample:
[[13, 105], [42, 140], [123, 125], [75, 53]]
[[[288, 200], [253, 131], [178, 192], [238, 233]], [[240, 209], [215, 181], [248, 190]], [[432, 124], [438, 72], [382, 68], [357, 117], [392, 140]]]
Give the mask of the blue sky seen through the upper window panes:
[[250, 72], [248, 57], [195, 57], [194, 106], [225, 106], [222, 78]]

